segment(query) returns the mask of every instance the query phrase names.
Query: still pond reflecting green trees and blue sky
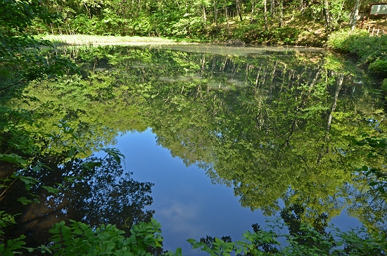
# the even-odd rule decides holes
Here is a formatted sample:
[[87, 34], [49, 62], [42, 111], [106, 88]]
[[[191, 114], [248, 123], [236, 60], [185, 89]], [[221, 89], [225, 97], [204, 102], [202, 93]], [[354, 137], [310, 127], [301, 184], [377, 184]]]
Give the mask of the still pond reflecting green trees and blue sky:
[[[383, 138], [383, 97], [350, 59], [213, 44], [62, 53], [80, 75], [34, 82], [8, 103], [34, 113], [51, 151], [82, 149], [82, 158], [34, 172], [53, 187], [79, 177], [69, 190], [38, 190], [40, 204], [20, 205], [29, 194], [17, 189], [3, 200], [0, 210], [23, 213], [10, 232], [29, 234], [29, 245], [67, 219], [128, 231], [153, 217], [164, 249], [184, 255], [199, 254], [188, 238], [236, 241], [267, 220], [386, 231], [386, 198], [364, 175], [385, 157], [359, 143]], [[85, 172], [87, 162], [99, 165]]]

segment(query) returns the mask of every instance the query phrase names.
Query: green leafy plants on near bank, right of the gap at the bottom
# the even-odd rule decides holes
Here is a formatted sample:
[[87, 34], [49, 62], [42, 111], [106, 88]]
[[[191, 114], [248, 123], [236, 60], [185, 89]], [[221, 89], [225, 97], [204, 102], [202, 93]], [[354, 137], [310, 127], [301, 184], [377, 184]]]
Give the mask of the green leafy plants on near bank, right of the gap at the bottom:
[[[334, 229], [332, 236], [324, 236], [312, 226], [301, 224], [302, 234], [278, 232], [246, 231], [243, 240], [224, 241], [214, 238], [210, 243], [207, 241], [196, 241], [189, 239], [193, 248], [199, 248], [208, 252], [209, 255], [386, 255], [387, 242], [381, 238], [376, 240], [364, 236], [364, 230], [352, 230], [342, 232]], [[336, 240], [333, 239], [336, 237]], [[284, 238], [284, 243], [279, 239]], [[312, 243], [300, 243], [310, 240]], [[268, 246], [269, 245], [269, 246]], [[274, 247], [273, 247], [274, 246]]]

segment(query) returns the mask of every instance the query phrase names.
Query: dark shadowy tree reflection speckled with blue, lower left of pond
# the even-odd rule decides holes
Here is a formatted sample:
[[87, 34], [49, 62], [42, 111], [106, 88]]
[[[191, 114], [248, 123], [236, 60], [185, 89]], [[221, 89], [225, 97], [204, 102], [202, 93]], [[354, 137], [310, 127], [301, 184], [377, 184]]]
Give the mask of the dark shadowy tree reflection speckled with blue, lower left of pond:
[[[41, 187], [32, 188], [30, 193], [13, 191], [4, 198], [7, 210], [13, 207], [22, 213], [16, 219], [18, 227], [13, 227], [8, 234], [27, 234], [28, 246], [45, 243], [51, 236], [47, 231], [61, 220], [73, 219], [91, 226], [113, 223], [129, 236], [133, 224], [149, 222], [153, 217], [153, 210], [144, 210], [153, 202], [150, 196], [153, 184], [135, 181], [132, 173], [125, 172], [111, 156], [75, 158], [63, 165], [57, 165], [55, 160], [45, 164], [48, 168], [28, 174], [45, 186], [60, 188], [56, 195]], [[32, 193], [41, 198], [40, 203], [20, 209], [17, 198], [33, 199]]]

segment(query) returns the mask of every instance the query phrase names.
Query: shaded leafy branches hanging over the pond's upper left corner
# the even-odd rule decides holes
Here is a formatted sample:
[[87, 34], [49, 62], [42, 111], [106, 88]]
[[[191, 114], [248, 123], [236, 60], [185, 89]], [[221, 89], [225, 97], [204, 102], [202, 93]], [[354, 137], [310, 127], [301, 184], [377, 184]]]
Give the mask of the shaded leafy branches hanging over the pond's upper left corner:
[[51, 23], [53, 18], [39, 0], [0, 2], [0, 93], [34, 79], [76, 70], [66, 58], [44, 56], [40, 49], [52, 47], [51, 43], [26, 32], [34, 20]]

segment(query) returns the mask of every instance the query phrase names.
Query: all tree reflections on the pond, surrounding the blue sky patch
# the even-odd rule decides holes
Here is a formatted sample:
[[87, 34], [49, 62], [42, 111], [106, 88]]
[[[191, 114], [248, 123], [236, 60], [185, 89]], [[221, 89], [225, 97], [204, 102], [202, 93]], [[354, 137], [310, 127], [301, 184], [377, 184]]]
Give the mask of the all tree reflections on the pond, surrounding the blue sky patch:
[[[385, 198], [355, 172], [362, 166], [385, 169], [385, 156], [368, 158], [367, 148], [350, 144], [362, 134], [384, 136], [383, 104], [368, 77], [322, 51], [243, 48], [238, 56], [241, 49], [190, 47], [65, 50], [82, 66], [82, 77], [31, 84], [28, 96], [39, 101], [13, 103], [33, 111], [47, 133], [55, 134], [53, 124], [65, 120], [80, 139], [61, 136], [85, 152], [120, 133], [150, 128], [172, 157], [205, 169], [214, 183], [234, 189], [242, 207], [266, 215], [284, 212], [284, 202], [285, 209], [300, 205], [297, 216], [309, 224], [324, 217], [322, 225], [349, 209], [369, 228], [386, 226]], [[151, 184], [133, 181], [113, 160], [89, 160], [102, 165], [84, 172], [83, 160], [74, 160], [48, 164], [47, 177], [39, 172], [47, 184], [83, 178], [50, 196], [44, 207], [26, 207], [23, 223], [31, 222], [34, 207], [42, 207], [46, 218], [58, 215], [56, 222], [65, 216], [122, 229], [151, 217], [143, 210], [151, 203]]]

